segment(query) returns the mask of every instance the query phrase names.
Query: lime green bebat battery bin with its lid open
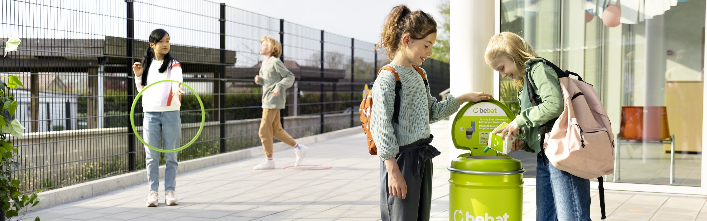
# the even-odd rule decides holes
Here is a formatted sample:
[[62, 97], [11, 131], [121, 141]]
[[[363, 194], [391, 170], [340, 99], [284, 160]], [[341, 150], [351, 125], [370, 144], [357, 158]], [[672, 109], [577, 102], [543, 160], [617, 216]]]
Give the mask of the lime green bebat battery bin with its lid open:
[[486, 149], [489, 134], [515, 115], [497, 100], [470, 102], [452, 122], [455, 148], [469, 150], [450, 162], [449, 220], [522, 220], [520, 160]]

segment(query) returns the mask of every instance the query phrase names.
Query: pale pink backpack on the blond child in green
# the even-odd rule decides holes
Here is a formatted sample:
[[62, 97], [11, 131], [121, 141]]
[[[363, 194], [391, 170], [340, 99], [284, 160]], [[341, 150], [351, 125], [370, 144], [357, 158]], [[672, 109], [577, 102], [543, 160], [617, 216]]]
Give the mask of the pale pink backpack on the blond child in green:
[[[545, 64], [557, 73], [565, 108], [549, 133], [545, 132], [547, 128], [541, 129], [544, 154], [557, 169], [584, 179], [599, 179], [604, 220], [602, 176], [614, 172], [612, 124], [592, 85], [584, 82], [577, 73], [562, 71], [547, 60]], [[570, 75], [577, 76], [578, 80]], [[528, 95], [532, 95], [530, 100], [536, 106], [534, 91], [527, 88]]]

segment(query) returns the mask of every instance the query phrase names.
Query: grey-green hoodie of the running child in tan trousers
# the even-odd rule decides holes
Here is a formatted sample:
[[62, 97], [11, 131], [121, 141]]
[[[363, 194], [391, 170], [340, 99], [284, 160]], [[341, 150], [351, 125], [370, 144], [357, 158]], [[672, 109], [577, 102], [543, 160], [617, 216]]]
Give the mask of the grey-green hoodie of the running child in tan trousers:
[[[285, 67], [285, 64], [276, 57], [264, 60], [258, 73], [260, 80], [258, 85], [263, 86], [262, 108], [263, 109], [284, 109], [285, 90], [292, 87], [295, 82], [295, 75]], [[271, 90], [280, 92], [280, 96], [275, 97]]]

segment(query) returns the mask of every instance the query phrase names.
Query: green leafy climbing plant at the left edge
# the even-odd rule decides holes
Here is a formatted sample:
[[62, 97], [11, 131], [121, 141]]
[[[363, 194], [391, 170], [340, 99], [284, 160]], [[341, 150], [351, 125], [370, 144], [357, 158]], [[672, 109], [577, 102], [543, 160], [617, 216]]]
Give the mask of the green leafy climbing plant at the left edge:
[[[4, 40], [3, 40], [4, 41]], [[5, 41], [4, 41], [5, 42]], [[5, 54], [11, 51], [17, 51], [18, 44], [21, 40], [18, 37], [11, 37], [6, 41]], [[22, 130], [25, 129], [20, 121], [13, 119], [17, 109], [17, 102], [10, 91], [18, 86], [25, 85], [17, 76], [0, 76], [0, 210], [5, 212], [5, 217], [18, 217], [23, 208], [33, 207], [37, 205], [44, 197], [37, 196], [40, 192], [32, 192], [20, 186], [20, 181], [13, 178], [13, 171], [19, 169], [20, 162], [17, 162], [19, 156], [17, 148], [12, 145], [12, 141], [8, 140], [6, 134], [11, 134], [14, 137], [22, 138]], [[24, 217], [24, 213], [22, 213]], [[23, 217], [18, 218], [21, 220]], [[35, 220], [40, 220], [36, 217]]]

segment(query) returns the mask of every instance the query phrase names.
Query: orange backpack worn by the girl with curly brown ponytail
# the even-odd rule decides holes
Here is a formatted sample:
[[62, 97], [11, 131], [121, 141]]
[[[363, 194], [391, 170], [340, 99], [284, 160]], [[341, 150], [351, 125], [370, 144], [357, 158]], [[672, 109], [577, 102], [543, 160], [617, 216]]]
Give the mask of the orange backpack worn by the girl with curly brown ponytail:
[[[422, 72], [422, 68], [412, 65], [415, 70], [420, 73], [420, 76], [422, 77], [422, 81], [425, 83], [425, 87], [429, 87], [429, 84], [427, 83], [427, 78], [425, 78], [425, 74]], [[400, 76], [398, 76], [398, 73], [395, 71], [395, 68], [392, 68], [391, 66], [383, 66], [378, 70], [378, 75], [380, 75], [380, 71], [387, 70], [393, 73], [395, 76], [395, 109], [393, 111], [393, 117], [392, 121], [395, 124], [398, 124], [398, 112], [400, 109], [400, 89], [402, 89], [402, 82], [400, 82]], [[373, 85], [373, 83], [371, 83]], [[358, 109], [358, 114], [361, 114], [361, 128], [363, 128], [363, 133], [366, 133], [366, 143], [368, 143], [368, 153], [370, 155], [378, 155], [378, 148], [375, 147], [375, 142], [373, 141], [373, 135], [370, 134], [370, 114], [373, 113], [371, 110], [371, 107], [373, 107], [373, 88], [368, 90], [368, 93], [366, 93], [366, 96], [363, 96], [363, 101], [361, 102], [361, 107]]]

